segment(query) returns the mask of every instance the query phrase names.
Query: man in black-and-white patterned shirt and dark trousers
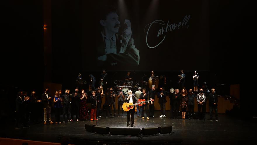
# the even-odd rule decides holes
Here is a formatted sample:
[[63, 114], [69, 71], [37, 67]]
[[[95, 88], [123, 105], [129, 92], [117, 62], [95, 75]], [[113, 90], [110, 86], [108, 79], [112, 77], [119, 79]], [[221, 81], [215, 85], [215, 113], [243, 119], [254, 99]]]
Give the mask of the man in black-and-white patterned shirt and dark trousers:
[[200, 88], [200, 93], [197, 94], [196, 100], [197, 100], [197, 106], [198, 106], [198, 120], [200, 120], [201, 108], [202, 108], [203, 119], [205, 120], [204, 113], [206, 111], [206, 106], [204, 104], [206, 103], [206, 95], [202, 88]]

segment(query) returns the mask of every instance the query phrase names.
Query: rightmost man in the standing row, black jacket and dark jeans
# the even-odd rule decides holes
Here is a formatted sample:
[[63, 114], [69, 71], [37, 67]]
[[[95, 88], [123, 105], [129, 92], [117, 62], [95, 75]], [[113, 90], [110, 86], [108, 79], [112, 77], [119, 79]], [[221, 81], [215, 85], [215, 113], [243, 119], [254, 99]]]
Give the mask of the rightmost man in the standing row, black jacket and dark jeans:
[[212, 121], [212, 110], [215, 111], [215, 120], [218, 121], [218, 95], [215, 93], [215, 89], [211, 89], [211, 93], [208, 96], [210, 106], [210, 121]]

